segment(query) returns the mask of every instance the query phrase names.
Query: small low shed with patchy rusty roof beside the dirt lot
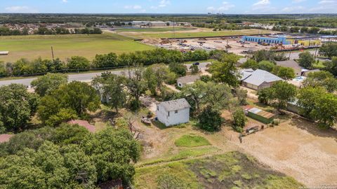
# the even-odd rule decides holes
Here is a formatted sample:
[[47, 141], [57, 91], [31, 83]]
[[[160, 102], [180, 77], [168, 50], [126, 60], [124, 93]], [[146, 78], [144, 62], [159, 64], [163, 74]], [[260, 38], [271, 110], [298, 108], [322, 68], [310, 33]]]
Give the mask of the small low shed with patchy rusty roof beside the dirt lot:
[[249, 118], [258, 120], [261, 123], [265, 123], [265, 124], [272, 123], [272, 121], [275, 118], [275, 114], [269, 113], [267, 111], [263, 111], [254, 106], [245, 106], [244, 113], [246, 113], [246, 116], [248, 116]]

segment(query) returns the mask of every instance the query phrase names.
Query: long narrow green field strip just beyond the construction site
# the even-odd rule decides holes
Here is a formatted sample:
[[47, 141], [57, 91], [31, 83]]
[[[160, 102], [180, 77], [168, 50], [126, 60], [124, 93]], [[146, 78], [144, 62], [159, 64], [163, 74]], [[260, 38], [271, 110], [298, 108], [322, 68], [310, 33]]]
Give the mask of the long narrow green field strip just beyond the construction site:
[[189, 37], [210, 37], [210, 36], [233, 36], [233, 35], [249, 35], [249, 34], [269, 34], [275, 31], [262, 29], [242, 29], [242, 30], [226, 30], [226, 31], [200, 31], [200, 32], [166, 32], [166, 33], [146, 33], [146, 32], [125, 32], [126, 36], [133, 38], [189, 38]]

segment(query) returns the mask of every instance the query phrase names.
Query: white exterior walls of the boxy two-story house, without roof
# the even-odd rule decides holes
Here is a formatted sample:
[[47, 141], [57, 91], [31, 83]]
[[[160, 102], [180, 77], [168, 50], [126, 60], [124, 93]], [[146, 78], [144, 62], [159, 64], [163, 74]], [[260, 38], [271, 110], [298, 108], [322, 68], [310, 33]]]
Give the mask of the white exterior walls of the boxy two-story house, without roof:
[[178, 113], [175, 113], [175, 111], [170, 111], [170, 116], [169, 116], [169, 112], [165, 111], [164, 107], [157, 106], [156, 113], [157, 113], [158, 120], [161, 123], [164, 123], [166, 127], [190, 122], [190, 109], [189, 108], [178, 110]]

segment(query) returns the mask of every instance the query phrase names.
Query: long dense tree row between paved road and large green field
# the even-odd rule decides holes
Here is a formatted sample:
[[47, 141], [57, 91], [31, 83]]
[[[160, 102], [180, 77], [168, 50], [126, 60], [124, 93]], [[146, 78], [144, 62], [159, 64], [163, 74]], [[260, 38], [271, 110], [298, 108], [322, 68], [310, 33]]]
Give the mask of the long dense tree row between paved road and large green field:
[[[28, 76], [48, 72], [67, 72], [84, 71], [88, 69], [105, 69], [129, 66], [133, 63], [143, 64], [145, 66], [155, 63], [169, 64], [171, 62], [187, 62], [209, 59], [211, 53], [205, 50], [195, 50], [194, 52], [180, 52], [178, 50], [145, 50], [116, 55], [111, 52], [105, 55], [96, 55], [93, 61], [86, 57], [74, 56], [67, 59], [66, 62], [60, 59], [19, 59], [16, 62], [3, 62], [0, 64], [0, 77], [6, 76]], [[0, 62], [1, 63], [1, 62]]]

